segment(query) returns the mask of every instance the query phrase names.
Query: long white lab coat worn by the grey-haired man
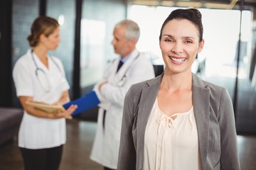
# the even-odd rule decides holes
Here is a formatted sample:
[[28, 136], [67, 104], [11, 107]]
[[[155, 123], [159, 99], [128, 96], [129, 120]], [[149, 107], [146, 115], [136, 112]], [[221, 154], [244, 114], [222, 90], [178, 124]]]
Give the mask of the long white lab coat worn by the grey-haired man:
[[[132, 52], [119, 72], [117, 72], [118, 63], [119, 58], [112, 61], [105, 70], [102, 81], [107, 81], [107, 84], [102, 86], [100, 91], [98, 86], [102, 81], [95, 85], [95, 91], [101, 103], [97, 119], [97, 132], [90, 155], [93, 161], [111, 169], [117, 169], [124, 96], [132, 84], [155, 77], [153, 65], [137, 50]], [[107, 112], [103, 130], [104, 110]]]

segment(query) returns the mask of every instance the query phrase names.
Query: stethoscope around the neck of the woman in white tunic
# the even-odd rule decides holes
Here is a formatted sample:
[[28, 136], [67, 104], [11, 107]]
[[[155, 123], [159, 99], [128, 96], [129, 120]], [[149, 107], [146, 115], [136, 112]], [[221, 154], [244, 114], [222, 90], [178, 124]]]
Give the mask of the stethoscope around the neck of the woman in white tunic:
[[[57, 67], [58, 71], [60, 72], [60, 75], [61, 75], [61, 82], [62, 83], [65, 83], [65, 78], [63, 76], [63, 73], [61, 72], [61, 69], [60, 69], [60, 66], [55, 62], [55, 60], [53, 60], [53, 57], [51, 55], [48, 55], [50, 58], [50, 60], [53, 61], [53, 63], [55, 64], [55, 66]], [[36, 60], [35, 60], [35, 57], [33, 55], [33, 51], [31, 50], [31, 57], [32, 57], [32, 60], [33, 60], [33, 63], [35, 64], [36, 66], [36, 70], [35, 70], [35, 74], [36, 74], [36, 77], [39, 81], [39, 84], [41, 84], [41, 87], [46, 91], [46, 92], [49, 92], [50, 91], [50, 81], [46, 75], [46, 72], [41, 69], [40, 67], [38, 67], [38, 64], [36, 64]], [[40, 74], [43, 74], [43, 77], [45, 77], [44, 79], [42, 77], [40, 77]], [[46, 84], [44, 83], [44, 81], [46, 81]], [[43, 84], [45, 84], [45, 86], [43, 86]]]

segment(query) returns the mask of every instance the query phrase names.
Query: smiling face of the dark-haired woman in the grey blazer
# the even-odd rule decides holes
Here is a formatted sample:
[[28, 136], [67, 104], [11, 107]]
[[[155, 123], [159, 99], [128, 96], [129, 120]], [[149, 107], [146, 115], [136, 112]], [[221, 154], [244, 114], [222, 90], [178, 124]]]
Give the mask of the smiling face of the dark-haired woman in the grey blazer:
[[196, 54], [201, 52], [204, 40], [199, 42], [198, 28], [186, 19], [171, 20], [164, 26], [160, 40], [166, 72], [191, 72]]

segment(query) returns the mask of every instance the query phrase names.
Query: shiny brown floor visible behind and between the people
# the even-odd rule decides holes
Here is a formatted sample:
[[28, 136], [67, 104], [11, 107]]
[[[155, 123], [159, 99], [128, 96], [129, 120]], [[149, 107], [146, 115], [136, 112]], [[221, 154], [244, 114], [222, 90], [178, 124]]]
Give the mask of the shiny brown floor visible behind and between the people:
[[[68, 142], [65, 145], [60, 170], [102, 170], [102, 166], [89, 158], [97, 124], [85, 120], [68, 120]], [[256, 136], [238, 135], [241, 169], [255, 170]], [[0, 146], [0, 169], [23, 170], [17, 140]]]

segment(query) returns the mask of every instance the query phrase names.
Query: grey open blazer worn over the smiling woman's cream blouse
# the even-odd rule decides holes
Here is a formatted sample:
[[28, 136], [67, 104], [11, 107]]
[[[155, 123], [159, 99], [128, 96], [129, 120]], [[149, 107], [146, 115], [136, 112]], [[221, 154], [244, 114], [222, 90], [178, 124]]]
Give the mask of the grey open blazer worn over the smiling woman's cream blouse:
[[[117, 166], [119, 170], [143, 169], [144, 132], [163, 75], [134, 84], [127, 92]], [[192, 98], [203, 169], [240, 169], [233, 104], [227, 89], [193, 74]]]

